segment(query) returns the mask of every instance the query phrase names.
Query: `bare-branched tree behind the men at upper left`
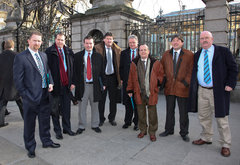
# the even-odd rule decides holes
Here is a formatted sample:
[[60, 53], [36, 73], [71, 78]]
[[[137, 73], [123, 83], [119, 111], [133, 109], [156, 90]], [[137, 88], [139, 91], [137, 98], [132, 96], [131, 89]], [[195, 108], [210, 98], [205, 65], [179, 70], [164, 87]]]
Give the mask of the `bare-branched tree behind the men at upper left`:
[[14, 8], [14, 4], [17, 3], [22, 9], [22, 20], [17, 22], [17, 37], [21, 36], [17, 44], [19, 50], [26, 48], [28, 36], [26, 34], [31, 29], [43, 33], [42, 49], [45, 49], [56, 31], [71, 28], [68, 18], [78, 12], [74, 10], [76, 5], [80, 4], [84, 9], [90, 7], [88, 0], [1, 0], [1, 3], [11, 8]]

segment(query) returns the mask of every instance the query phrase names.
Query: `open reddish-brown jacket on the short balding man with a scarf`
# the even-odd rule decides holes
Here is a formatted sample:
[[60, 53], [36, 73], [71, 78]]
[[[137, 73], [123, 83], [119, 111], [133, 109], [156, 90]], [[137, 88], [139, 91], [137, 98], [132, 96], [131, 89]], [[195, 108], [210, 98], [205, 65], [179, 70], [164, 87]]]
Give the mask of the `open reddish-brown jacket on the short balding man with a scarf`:
[[[134, 93], [134, 100], [136, 104], [142, 104], [141, 98], [141, 89], [138, 81], [138, 72], [137, 72], [137, 62], [140, 60], [138, 56], [133, 60], [130, 66], [129, 77], [128, 77], [128, 86], [127, 92]], [[150, 57], [150, 96], [149, 96], [149, 105], [156, 105], [158, 101], [158, 85], [162, 83], [163, 80], [163, 67], [160, 61], [155, 60]]]

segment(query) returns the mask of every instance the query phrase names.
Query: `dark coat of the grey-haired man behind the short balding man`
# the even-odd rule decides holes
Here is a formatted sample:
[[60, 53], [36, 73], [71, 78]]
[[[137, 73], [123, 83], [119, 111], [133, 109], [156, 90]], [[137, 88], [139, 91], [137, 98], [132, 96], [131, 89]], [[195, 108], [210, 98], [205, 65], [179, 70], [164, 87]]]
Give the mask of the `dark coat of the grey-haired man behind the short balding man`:
[[120, 78], [123, 81], [123, 104], [126, 104], [127, 97], [129, 97], [126, 92], [126, 88], [127, 88], [129, 70], [131, 65], [130, 55], [131, 55], [131, 50], [130, 48], [127, 48], [121, 52], [121, 56], [120, 56], [119, 73], [120, 73]]

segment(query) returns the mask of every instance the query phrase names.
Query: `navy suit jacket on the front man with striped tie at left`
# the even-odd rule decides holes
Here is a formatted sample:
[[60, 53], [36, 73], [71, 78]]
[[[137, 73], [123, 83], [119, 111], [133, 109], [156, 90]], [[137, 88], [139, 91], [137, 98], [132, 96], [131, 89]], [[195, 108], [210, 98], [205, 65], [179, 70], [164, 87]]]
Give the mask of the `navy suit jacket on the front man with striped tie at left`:
[[[47, 56], [40, 51], [39, 55], [42, 59], [45, 73], [49, 74], [50, 84], [53, 84], [52, 76], [47, 65]], [[13, 79], [23, 99], [33, 104], [40, 103], [42, 97], [42, 77], [28, 49], [16, 55], [13, 64]]]

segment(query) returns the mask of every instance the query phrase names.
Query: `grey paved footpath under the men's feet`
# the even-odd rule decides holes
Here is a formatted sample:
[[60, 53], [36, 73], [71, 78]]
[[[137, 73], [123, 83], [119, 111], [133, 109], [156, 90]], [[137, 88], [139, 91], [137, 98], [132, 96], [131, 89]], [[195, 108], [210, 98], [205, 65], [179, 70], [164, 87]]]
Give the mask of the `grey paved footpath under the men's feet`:
[[[0, 128], [0, 165], [240, 165], [240, 103], [231, 103], [230, 128], [232, 131], [231, 156], [220, 155], [218, 132], [214, 122], [212, 145], [195, 146], [184, 142], [179, 135], [178, 111], [174, 135], [159, 137], [164, 130], [165, 97], [160, 95], [158, 102], [157, 141], [150, 142], [149, 136], [138, 139], [133, 126], [122, 129], [125, 109], [118, 104], [116, 122], [113, 127], [105, 122], [102, 133], [95, 133], [90, 126], [90, 108], [88, 107], [88, 126], [81, 135], [70, 137], [63, 135], [57, 140], [51, 130], [54, 142], [61, 144], [59, 149], [42, 148], [36, 127], [36, 158], [29, 159], [23, 143], [23, 121], [15, 102], [9, 102], [11, 112], [6, 117], [7, 127]], [[106, 104], [106, 112], [108, 105]], [[190, 140], [199, 138], [201, 127], [197, 114], [190, 113]], [[72, 128], [77, 130], [78, 106], [72, 106]]]

